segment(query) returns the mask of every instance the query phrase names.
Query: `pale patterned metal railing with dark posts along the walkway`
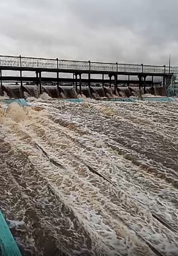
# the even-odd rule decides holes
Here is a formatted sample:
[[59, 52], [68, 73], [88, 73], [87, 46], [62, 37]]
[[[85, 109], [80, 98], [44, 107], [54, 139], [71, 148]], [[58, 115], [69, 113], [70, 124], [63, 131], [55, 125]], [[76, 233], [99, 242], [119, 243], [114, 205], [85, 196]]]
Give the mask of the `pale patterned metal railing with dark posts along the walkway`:
[[46, 69], [65, 69], [65, 70], [87, 70], [87, 71], [106, 71], [106, 72], [143, 72], [143, 73], [163, 73], [175, 72], [178, 68], [168, 66], [153, 66], [143, 64], [124, 64], [124, 63], [104, 63], [92, 61], [73, 61], [64, 59], [44, 59], [22, 56], [0, 56], [0, 66], [7, 67], [28, 67]]

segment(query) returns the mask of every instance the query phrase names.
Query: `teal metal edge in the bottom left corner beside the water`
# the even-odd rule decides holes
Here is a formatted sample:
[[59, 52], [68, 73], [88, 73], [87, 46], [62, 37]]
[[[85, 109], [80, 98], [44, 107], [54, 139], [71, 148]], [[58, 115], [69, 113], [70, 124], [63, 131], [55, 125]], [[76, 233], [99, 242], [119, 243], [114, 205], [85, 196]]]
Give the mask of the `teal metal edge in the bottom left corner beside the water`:
[[2, 256], [22, 256], [0, 211], [0, 247]]

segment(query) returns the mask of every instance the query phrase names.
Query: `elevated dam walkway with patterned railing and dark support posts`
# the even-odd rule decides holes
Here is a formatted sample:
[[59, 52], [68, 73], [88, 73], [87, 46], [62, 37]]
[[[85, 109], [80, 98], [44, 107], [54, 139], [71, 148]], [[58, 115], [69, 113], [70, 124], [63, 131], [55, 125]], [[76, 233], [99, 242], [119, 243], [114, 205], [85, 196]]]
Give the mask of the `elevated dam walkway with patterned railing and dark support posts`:
[[[36, 73], [36, 84], [39, 85], [39, 91], [42, 92], [42, 72], [54, 72], [56, 73], [56, 83], [62, 81], [60, 73], [71, 73], [73, 74], [73, 84], [75, 84], [76, 91], [81, 91], [82, 87], [82, 74], [88, 74], [88, 78], [85, 82], [88, 86], [91, 85], [92, 79], [91, 74], [101, 74], [101, 82], [114, 84], [114, 90], [119, 84], [119, 75], [127, 75], [128, 80], [126, 80], [129, 85], [132, 81], [130, 76], [138, 77], [139, 87], [145, 87], [147, 84], [147, 76], [151, 76], [152, 80], [149, 82], [153, 85], [154, 76], [159, 76], [163, 78], [163, 85], [165, 81], [169, 78], [173, 72], [174, 68], [163, 65], [143, 65], [143, 64], [124, 64], [124, 63], [104, 63], [104, 62], [93, 62], [93, 61], [73, 61], [73, 60], [61, 60], [61, 59], [45, 59], [45, 58], [31, 58], [22, 56], [0, 56], [0, 85], [2, 87], [2, 81], [7, 80], [7, 77], [2, 76], [2, 70], [16, 70], [20, 72], [19, 80], [21, 86], [23, 81], [27, 79], [22, 76], [23, 71], [33, 71]], [[104, 75], [108, 75], [107, 80], [104, 80]], [[8, 81], [15, 81], [14, 76], [8, 76]]]

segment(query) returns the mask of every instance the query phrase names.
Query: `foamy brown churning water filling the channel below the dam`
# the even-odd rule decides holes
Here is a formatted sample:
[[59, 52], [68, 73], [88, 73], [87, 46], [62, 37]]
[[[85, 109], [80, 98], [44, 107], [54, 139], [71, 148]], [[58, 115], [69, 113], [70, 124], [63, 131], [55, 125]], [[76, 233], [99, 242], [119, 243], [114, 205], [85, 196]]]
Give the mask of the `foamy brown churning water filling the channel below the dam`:
[[0, 208], [25, 256], [178, 255], [178, 103], [0, 108]]

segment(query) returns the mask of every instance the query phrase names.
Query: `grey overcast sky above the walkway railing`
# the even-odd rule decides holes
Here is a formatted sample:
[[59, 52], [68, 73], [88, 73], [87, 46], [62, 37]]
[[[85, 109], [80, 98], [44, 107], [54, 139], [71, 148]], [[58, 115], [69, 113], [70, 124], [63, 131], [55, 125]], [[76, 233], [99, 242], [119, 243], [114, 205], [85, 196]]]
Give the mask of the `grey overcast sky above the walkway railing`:
[[178, 65], [178, 0], [0, 0], [0, 54]]

